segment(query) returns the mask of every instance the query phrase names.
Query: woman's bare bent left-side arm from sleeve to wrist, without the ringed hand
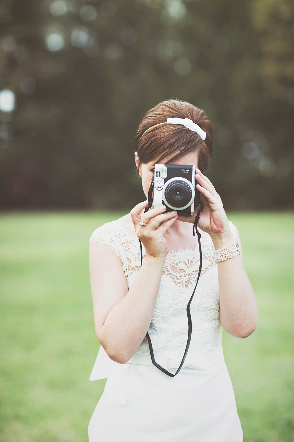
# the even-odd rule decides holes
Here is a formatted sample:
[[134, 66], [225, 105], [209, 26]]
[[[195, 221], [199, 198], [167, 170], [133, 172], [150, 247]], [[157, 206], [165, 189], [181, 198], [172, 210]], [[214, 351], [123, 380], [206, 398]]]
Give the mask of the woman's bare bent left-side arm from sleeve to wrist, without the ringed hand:
[[90, 279], [97, 338], [108, 356], [125, 364], [144, 339], [155, 308], [164, 259], [146, 257], [128, 290], [121, 260], [110, 246], [90, 244]]

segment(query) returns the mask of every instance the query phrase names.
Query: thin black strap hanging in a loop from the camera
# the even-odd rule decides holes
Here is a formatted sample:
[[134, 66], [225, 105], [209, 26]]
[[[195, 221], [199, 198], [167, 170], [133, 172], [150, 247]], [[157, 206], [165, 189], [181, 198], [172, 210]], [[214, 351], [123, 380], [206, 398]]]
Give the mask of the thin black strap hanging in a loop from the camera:
[[[153, 187], [154, 187], [154, 176], [152, 177], [152, 181], [151, 181], [151, 184], [150, 184], [150, 187], [149, 187], [149, 191], [148, 191], [148, 206], [145, 208], [144, 213], [148, 212], [148, 210], [151, 209], [151, 207], [152, 207], [152, 203], [153, 203], [153, 198], [152, 198]], [[192, 293], [192, 295], [191, 295], [191, 297], [189, 299], [189, 302], [188, 302], [188, 305], [187, 305], [187, 308], [186, 308], [187, 318], [188, 318], [188, 339], [187, 339], [187, 343], [186, 343], [186, 348], [185, 348], [185, 352], [184, 352], [184, 355], [183, 355], [183, 358], [182, 358], [182, 362], [180, 363], [179, 368], [178, 368], [178, 370], [175, 373], [170, 373], [169, 371], [165, 370], [162, 366], [160, 366], [156, 362], [156, 360], [154, 358], [152, 343], [151, 343], [151, 339], [150, 339], [148, 331], [147, 331], [147, 334], [146, 334], [146, 338], [147, 338], [148, 345], [149, 345], [151, 361], [152, 361], [153, 365], [155, 365], [160, 371], [162, 371], [163, 373], [167, 374], [167, 376], [170, 376], [170, 377], [176, 376], [179, 373], [179, 371], [181, 370], [181, 368], [182, 368], [182, 366], [183, 366], [183, 364], [185, 362], [185, 359], [186, 359], [186, 356], [187, 356], [187, 353], [188, 353], [188, 350], [189, 350], [190, 342], [191, 342], [192, 319], [191, 319], [191, 313], [190, 313], [190, 305], [191, 305], [191, 302], [193, 300], [193, 297], [194, 297], [194, 294], [195, 294], [195, 291], [196, 291], [196, 287], [197, 287], [197, 284], [198, 284], [198, 281], [199, 281], [199, 278], [200, 278], [201, 269], [202, 269], [202, 250], [201, 250], [201, 241], [200, 241], [201, 233], [197, 229], [197, 224], [198, 224], [200, 213], [202, 212], [202, 210], [203, 210], [203, 202], [201, 201], [200, 202], [200, 207], [199, 207], [199, 210], [198, 210], [197, 215], [195, 217], [195, 221], [194, 221], [194, 225], [193, 225], [193, 236], [195, 236], [195, 232], [196, 232], [196, 234], [198, 236], [198, 246], [199, 246], [199, 255], [200, 255], [199, 270], [198, 270], [198, 274], [197, 274], [196, 285], [194, 287], [193, 293]], [[143, 252], [142, 252], [141, 240], [139, 240], [139, 243], [140, 243], [141, 265], [142, 265]]]

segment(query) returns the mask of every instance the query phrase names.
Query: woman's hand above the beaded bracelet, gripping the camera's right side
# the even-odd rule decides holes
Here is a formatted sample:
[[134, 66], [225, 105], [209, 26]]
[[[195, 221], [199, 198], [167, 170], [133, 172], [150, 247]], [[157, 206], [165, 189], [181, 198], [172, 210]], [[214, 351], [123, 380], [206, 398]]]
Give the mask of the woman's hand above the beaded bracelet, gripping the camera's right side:
[[[207, 232], [210, 236], [230, 235], [231, 231], [220, 195], [209, 179], [197, 168], [195, 179], [197, 180], [196, 188], [201, 193], [201, 201], [204, 204], [198, 221], [199, 229]], [[199, 206], [194, 214], [188, 217], [179, 215], [178, 220], [194, 223], [198, 209]]]

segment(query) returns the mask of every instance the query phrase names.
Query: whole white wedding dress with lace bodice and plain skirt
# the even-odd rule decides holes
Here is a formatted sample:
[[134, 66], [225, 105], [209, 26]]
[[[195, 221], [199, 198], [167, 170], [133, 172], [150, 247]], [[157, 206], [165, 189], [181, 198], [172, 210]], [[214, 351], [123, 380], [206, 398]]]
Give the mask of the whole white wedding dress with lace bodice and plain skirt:
[[[237, 239], [231, 222], [230, 228]], [[138, 239], [118, 220], [99, 227], [90, 241], [112, 247], [123, 262], [130, 288], [141, 267]], [[182, 370], [169, 377], [153, 366], [146, 339], [123, 365], [113, 362], [100, 347], [90, 380], [108, 380], [89, 423], [89, 442], [242, 442], [221, 344], [217, 264], [205, 232], [201, 232], [201, 247], [201, 277], [190, 307], [192, 338]], [[148, 332], [156, 362], [172, 373], [186, 346], [186, 305], [198, 269], [198, 244], [169, 252], [164, 264]]]

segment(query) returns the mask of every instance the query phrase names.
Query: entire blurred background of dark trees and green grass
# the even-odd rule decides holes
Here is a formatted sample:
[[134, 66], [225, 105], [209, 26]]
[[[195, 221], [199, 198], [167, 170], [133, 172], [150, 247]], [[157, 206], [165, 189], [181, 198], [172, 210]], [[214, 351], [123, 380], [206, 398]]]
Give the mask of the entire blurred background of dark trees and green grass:
[[169, 98], [215, 125], [259, 304], [223, 332], [244, 442], [294, 442], [293, 51], [293, 0], [1, 0], [0, 442], [87, 441], [88, 241], [144, 198], [135, 131]]

